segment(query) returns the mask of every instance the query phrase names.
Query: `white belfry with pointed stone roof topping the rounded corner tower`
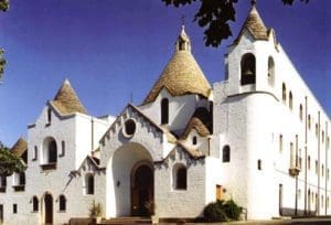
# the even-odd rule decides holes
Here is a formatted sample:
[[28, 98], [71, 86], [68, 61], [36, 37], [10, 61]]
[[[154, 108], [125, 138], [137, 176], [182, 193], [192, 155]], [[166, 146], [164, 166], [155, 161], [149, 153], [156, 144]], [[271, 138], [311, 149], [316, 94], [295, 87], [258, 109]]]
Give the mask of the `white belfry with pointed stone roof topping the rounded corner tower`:
[[250, 4], [244, 25], [229, 45], [225, 60], [228, 95], [269, 92], [270, 84], [274, 84], [273, 55], [277, 52], [274, 30], [266, 28], [257, 11], [256, 0]]

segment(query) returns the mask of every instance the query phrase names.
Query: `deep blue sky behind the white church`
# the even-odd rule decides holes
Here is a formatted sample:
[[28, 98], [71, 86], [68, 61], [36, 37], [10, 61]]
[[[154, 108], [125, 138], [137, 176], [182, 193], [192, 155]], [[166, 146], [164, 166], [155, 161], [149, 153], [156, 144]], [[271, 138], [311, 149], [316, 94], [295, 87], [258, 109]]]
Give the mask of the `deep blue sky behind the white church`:
[[[10, 10], [0, 13], [0, 46], [8, 60], [0, 86], [0, 140], [12, 146], [26, 138], [26, 125], [35, 121], [64, 78], [90, 115], [118, 115], [131, 93], [139, 105], [173, 53], [182, 14], [206, 77], [223, 81], [226, 46], [249, 2], [236, 4], [234, 36], [212, 49], [204, 46], [203, 30], [192, 23], [196, 3], [177, 9], [161, 0], [11, 0]], [[284, 7], [281, 0], [268, 0], [257, 7], [330, 116], [331, 1]]]

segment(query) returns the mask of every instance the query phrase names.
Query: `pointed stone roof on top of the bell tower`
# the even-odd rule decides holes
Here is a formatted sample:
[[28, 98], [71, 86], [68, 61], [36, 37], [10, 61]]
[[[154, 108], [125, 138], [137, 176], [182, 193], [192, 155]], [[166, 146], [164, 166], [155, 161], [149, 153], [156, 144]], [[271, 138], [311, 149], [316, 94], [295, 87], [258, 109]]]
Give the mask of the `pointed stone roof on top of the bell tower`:
[[252, 9], [239, 32], [239, 35], [236, 38], [234, 43], [239, 42], [245, 30], [248, 30], [255, 40], [268, 40], [269, 30], [266, 28], [264, 21], [260, 19], [255, 4], [252, 6]]

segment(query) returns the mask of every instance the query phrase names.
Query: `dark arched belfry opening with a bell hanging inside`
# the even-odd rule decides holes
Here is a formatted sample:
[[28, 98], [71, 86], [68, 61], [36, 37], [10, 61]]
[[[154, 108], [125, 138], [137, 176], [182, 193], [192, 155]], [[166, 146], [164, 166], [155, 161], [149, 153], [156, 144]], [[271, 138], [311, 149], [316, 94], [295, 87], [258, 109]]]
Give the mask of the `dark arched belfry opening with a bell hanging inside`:
[[242, 85], [255, 84], [256, 81], [255, 68], [256, 68], [255, 56], [252, 53], [247, 53], [243, 55], [241, 62]]

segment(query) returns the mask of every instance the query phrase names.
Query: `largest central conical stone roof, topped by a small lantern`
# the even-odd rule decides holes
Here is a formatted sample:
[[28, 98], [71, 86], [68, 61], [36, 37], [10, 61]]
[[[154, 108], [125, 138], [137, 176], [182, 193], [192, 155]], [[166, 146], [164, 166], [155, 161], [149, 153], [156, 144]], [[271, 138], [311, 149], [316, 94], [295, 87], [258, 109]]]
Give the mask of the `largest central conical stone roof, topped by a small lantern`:
[[182, 28], [175, 43], [175, 52], [172, 58], [143, 104], [153, 101], [162, 88], [167, 88], [172, 96], [196, 94], [209, 97], [211, 93], [212, 87], [191, 53], [190, 39], [184, 28]]

